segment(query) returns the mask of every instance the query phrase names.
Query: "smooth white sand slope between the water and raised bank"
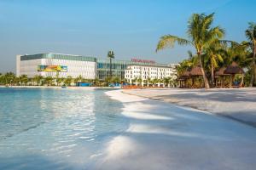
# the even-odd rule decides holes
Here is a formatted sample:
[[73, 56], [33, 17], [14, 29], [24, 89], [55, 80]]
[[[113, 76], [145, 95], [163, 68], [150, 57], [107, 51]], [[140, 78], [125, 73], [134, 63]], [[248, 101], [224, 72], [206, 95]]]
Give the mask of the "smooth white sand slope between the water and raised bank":
[[123, 103], [122, 114], [129, 119], [130, 127], [106, 145], [96, 169], [256, 167], [255, 127], [207, 111], [123, 94], [121, 90], [107, 94]]

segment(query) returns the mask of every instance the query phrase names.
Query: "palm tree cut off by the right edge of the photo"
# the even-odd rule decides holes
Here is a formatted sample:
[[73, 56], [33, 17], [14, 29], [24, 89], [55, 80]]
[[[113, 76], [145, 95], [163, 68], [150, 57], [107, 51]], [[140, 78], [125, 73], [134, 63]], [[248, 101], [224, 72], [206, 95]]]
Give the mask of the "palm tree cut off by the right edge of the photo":
[[251, 66], [251, 81], [249, 86], [253, 87], [253, 84], [256, 85], [256, 67], [255, 67], [255, 55], [256, 55], [256, 23], [250, 22], [249, 27], [245, 31], [247, 37], [247, 44], [253, 51], [253, 60]]

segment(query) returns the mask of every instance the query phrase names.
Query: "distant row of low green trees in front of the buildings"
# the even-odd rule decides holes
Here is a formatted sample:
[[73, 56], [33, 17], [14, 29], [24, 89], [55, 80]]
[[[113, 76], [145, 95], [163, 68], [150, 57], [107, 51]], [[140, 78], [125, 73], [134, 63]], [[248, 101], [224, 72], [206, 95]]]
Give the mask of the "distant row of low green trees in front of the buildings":
[[[20, 77], [16, 77], [15, 73], [7, 72], [5, 74], [0, 73], [0, 85], [5, 86], [75, 86], [78, 82], [89, 82], [91, 86], [96, 87], [108, 87], [109, 84], [113, 83], [128, 83], [126, 79], [120, 79], [119, 77], [106, 77], [104, 80], [96, 79], [85, 79], [82, 76], [79, 77], [42, 77], [42, 76], [34, 76], [27, 77], [27, 75], [20, 75]], [[141, 85], [144, 83], [145, 85], [150, 84], [150, 86], [156, 86], [159, 83], [165, 84], [166, 86], [176, 86], [177, 83], [171, 77], [166, 77], [162, 79], [150, 79], [143, 80], [142, 78], [134, 78], [132, 80], [132, 84]]]

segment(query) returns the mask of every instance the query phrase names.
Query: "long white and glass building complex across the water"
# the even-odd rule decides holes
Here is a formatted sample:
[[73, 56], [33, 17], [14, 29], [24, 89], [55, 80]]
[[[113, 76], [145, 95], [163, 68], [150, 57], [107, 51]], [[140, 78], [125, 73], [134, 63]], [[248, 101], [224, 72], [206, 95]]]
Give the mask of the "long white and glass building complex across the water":
[[95, 57], [71, 55], [71, 54], [32, 54], [17, 55], [16, 75], [36, 75], [43, 77], [79, 77], [85, 79], [106, 77], [119, 77], [131, 81], [131, 78], [163, 78], [172, 77], [175, 74], [174, 67], [158, 64], [152, 60], [112, 59], [112, 71], [110, 71], [110, 59], [97, 59]]

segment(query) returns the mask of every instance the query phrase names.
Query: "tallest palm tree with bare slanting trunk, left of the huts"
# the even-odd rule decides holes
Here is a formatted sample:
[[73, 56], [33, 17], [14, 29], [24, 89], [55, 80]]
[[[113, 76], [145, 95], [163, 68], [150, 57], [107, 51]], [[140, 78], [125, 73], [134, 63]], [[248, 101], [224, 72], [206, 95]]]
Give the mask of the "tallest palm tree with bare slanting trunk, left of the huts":
[[224, 30], [222, 28], [220, 28], [219, 26], [212, 28], [213, 15], [214, 13], [209, 15], [193, 14], [189, 19], [189, 26], [187, 31], [189, 40], [177, 36], [166, 35], [160, 37], [160, 42], [158, 42], [156, 48], [156, 51], [167, 47], [172, 48], [175, 42], [177, 42], [179, 45], [194, 46], [201, 65], [205, 88], [207, 89], [210, 87], [201, 55], [205, 53], [206, 49], [213, 41], [216, 40], [216, 38], [224, 37]]

